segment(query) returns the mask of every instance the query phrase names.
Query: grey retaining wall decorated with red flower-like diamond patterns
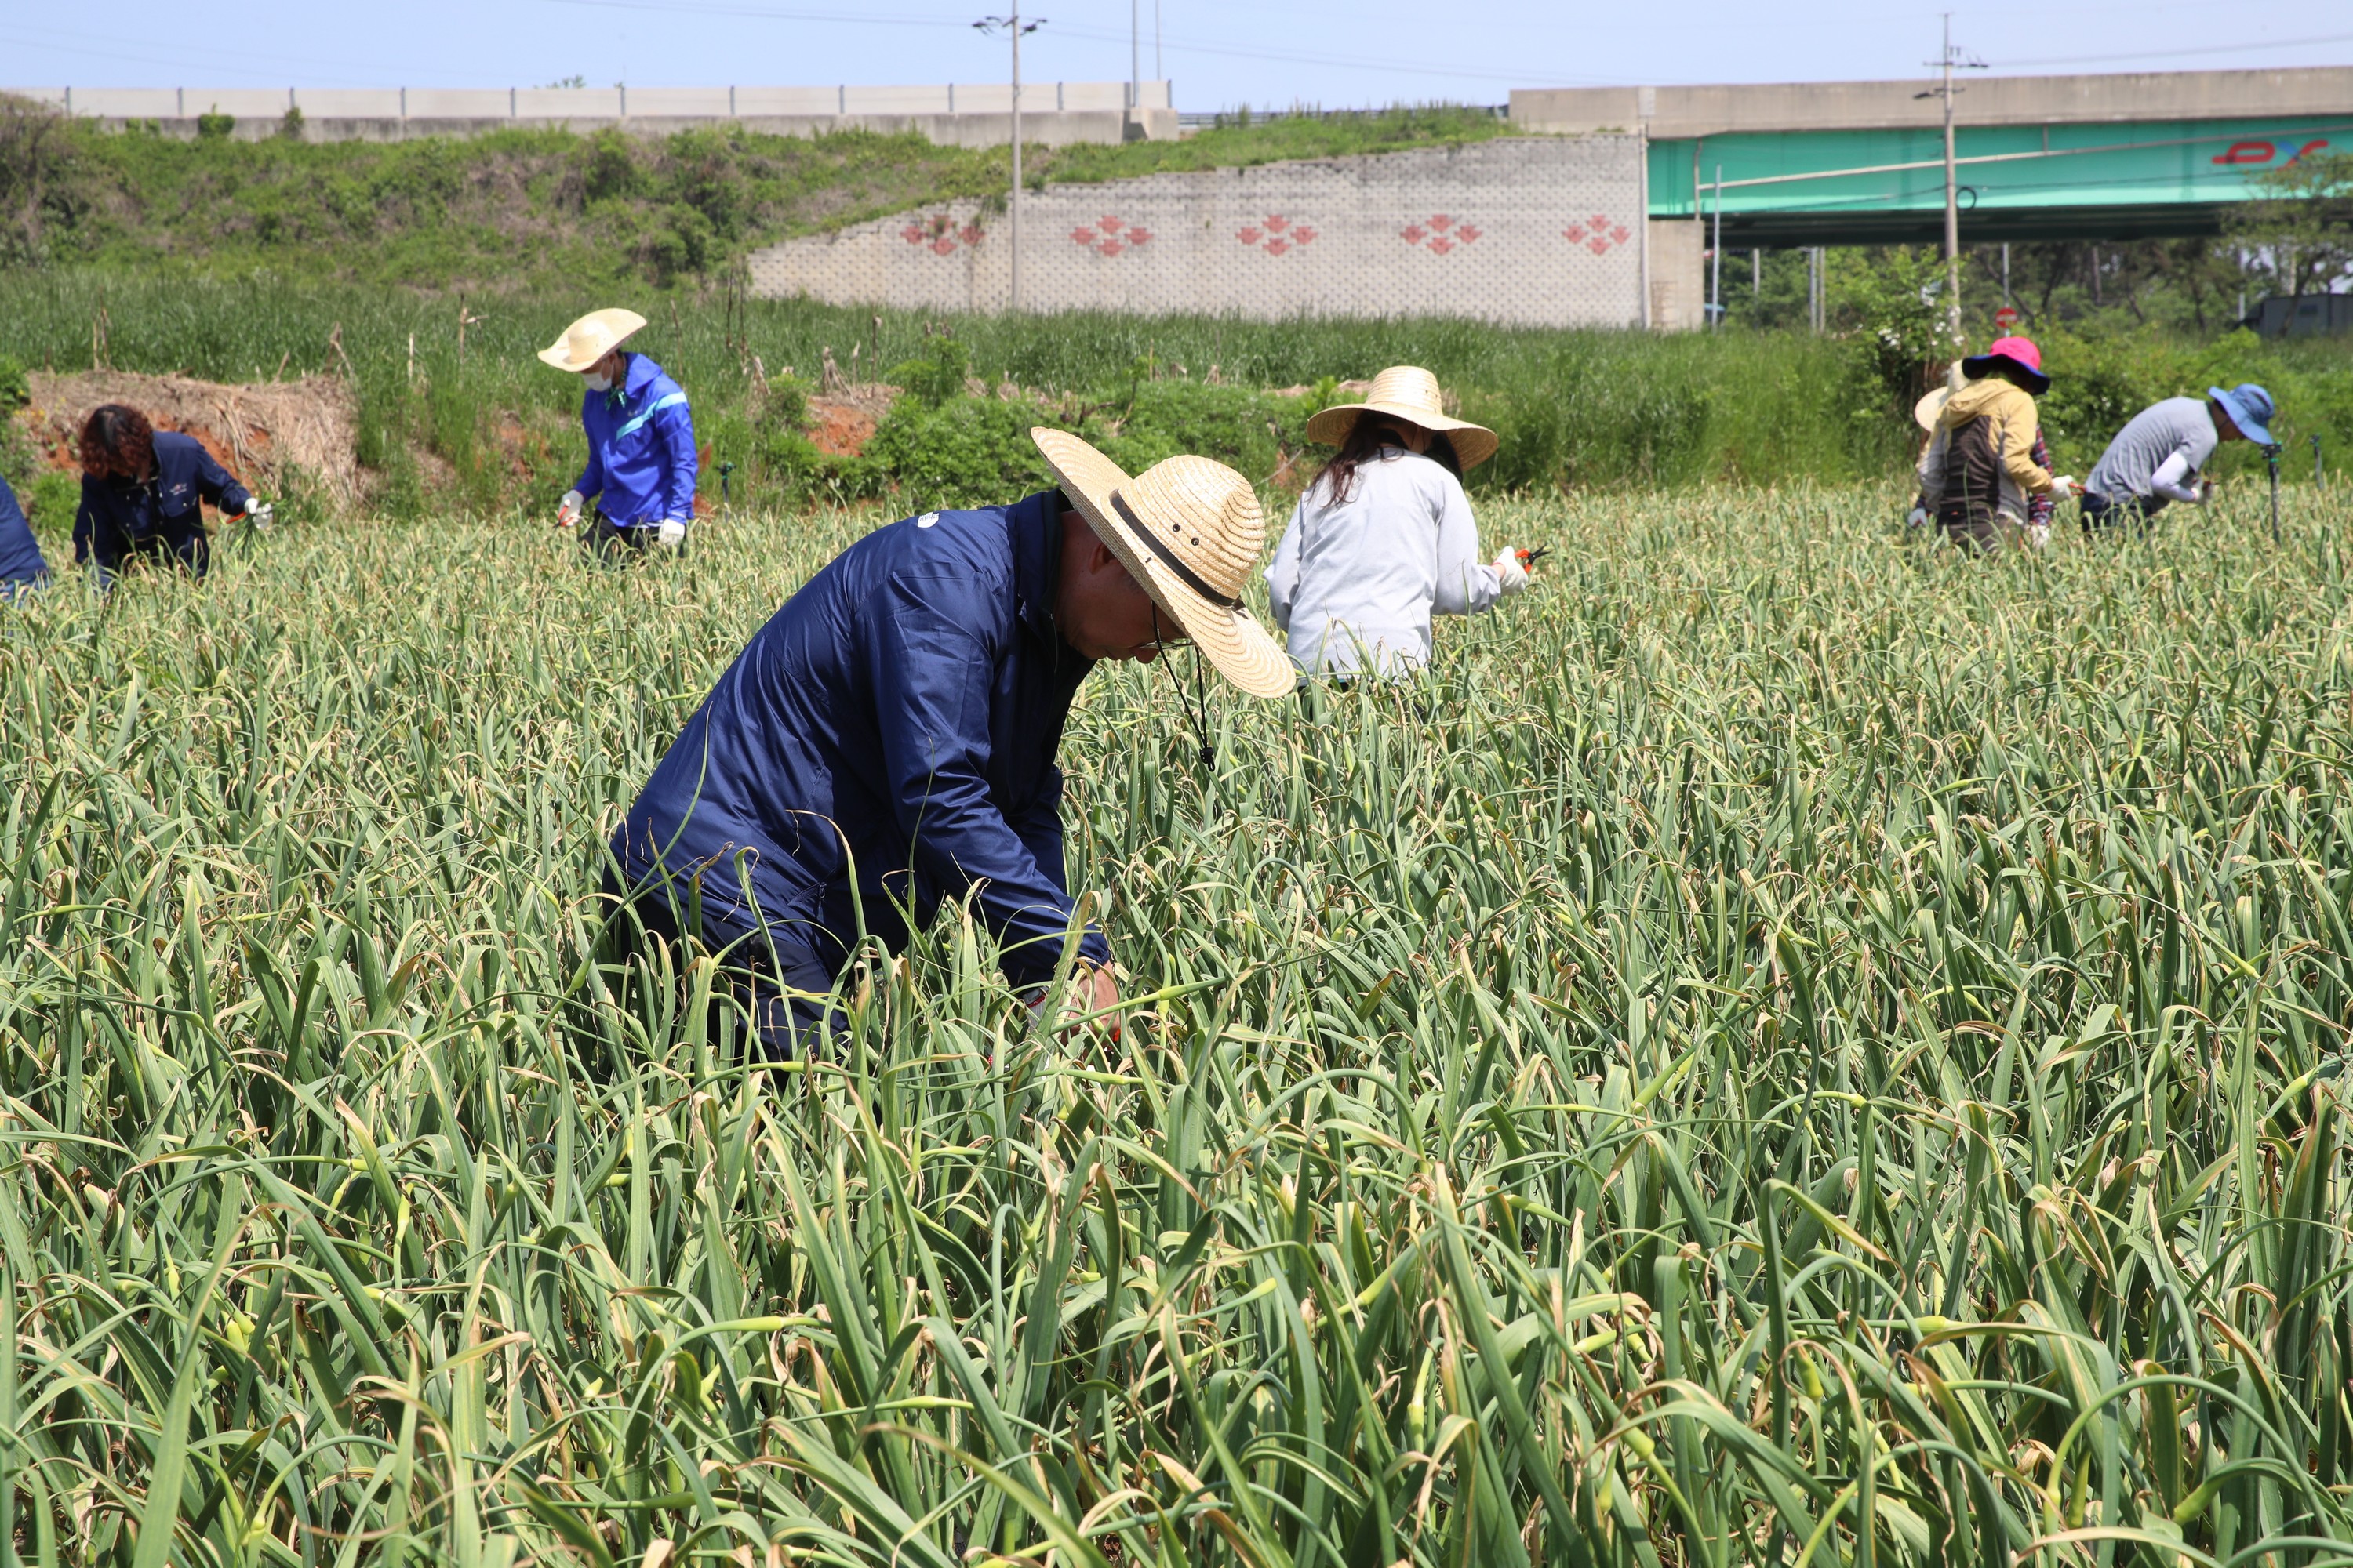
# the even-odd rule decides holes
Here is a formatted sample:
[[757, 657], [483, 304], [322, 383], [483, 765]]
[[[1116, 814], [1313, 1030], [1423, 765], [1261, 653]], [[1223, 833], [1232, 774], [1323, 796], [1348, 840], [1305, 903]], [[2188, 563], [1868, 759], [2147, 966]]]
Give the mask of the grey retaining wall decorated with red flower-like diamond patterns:
[[[1026, 310], [1642, 322], [1640, 141], [1577, 136], [1049, 186], [1021, 205]], [[979, 202], [751, 256], [767, 299], [1002, 310], [1009, 221]], [[1680, 306], [1680, 296], [1675, 296]]]

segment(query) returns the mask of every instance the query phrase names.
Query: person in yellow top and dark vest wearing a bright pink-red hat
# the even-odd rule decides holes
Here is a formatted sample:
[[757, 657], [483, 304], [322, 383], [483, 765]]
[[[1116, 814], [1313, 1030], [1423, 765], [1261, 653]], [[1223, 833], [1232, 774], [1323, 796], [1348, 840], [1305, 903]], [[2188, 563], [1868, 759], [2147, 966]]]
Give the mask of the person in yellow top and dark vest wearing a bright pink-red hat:
[[1920, 454], [1920, 498], [1937, 531], [1972, 550], [2000, 550], [2017, 534], [2028, 548], [2049, 541], [2049, 508], [2038, 505], [2059, 482], [2035, 461], [2035, 397], [2049, 390], [2042, 350], [2031, 339], [1995, 339], [1960, 362], [1960, 390], [1944, 400]]

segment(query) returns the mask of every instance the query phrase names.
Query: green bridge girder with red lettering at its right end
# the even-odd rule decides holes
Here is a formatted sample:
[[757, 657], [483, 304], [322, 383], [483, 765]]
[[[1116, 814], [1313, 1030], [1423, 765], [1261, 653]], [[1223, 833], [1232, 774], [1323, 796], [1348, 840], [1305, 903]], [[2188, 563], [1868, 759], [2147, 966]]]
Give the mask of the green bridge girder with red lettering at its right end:
[[[2249, 176], [2353, 146], [2346, 115], [1962, 125], [1962, 244], [2209, 235]], [[1649, 143], [1649, 216], [1715, 216], [1725, 247], [1944, 240], [1944, 127], [1727, 132]], [[1809, 179], [1791, 179], [1809, 176]]]

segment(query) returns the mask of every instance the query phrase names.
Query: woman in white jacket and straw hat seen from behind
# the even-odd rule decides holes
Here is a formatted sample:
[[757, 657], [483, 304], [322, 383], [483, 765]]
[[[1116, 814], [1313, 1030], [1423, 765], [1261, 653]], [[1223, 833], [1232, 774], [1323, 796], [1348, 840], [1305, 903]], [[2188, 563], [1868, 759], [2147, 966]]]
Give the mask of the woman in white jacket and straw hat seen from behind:
[[1301, 672], [1409, 677], [1431, 658], [1433, 614], [1475, 616], [1527, 585], [1518, 550], [1480, 559], [1461, 473], [1499, 442], [1447, 418], [1438, 376], [1393, 364], [1365, 402], [1315, 414], [1308, 437], [1339, 456], [1299, 496], [1266, 569]]

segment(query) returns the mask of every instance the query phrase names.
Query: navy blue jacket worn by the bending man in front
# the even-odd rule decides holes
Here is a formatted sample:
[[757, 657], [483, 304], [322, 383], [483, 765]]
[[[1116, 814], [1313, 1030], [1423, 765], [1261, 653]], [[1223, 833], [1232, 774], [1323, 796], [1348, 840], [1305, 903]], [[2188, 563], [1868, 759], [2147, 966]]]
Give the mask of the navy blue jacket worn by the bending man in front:
[[[896, 903], [929, 922], [979, 886], [1007, 978], [1052, 976], [1071, 922], [1054, 750], [1094, 668], [1054, 625], [1059, 581], [1054, 491], [868, 534], [687, 719], [614, 832], [621, 870], [699, 879], [713, 943], [807, 922], [847, 947], [864, 914], [896, 950]], [[1080, 952], [1111, 961], [1094, 929]]]

